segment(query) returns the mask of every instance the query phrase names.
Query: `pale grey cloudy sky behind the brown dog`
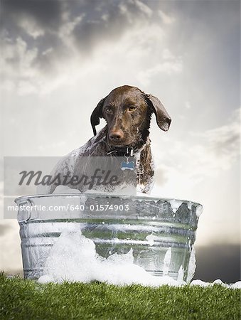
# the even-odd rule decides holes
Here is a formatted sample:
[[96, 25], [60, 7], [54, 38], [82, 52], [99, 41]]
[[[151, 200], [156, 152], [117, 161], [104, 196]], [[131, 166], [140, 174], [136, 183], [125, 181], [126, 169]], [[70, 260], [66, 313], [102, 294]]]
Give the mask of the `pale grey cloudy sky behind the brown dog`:
[[[203, 204], [198, 246], [237, 245], [239, 30], [235, 0], [2, 0], [2, 155], [67, 154], [97, 102], [134, 85], [172, 117], [151, 123], [153, 194]], [[0, 269], [21, 269], [16, 221], [0, 233]]]

